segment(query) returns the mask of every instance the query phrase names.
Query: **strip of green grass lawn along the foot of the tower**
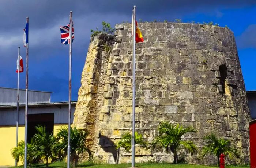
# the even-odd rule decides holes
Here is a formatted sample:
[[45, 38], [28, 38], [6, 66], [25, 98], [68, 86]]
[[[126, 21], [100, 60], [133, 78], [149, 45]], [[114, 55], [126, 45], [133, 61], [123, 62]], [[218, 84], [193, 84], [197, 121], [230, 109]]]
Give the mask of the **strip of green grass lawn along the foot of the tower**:
[[[170, 163], [138, 163], [135, 164], [139, 168], [216, 168], [212, 166], [204, 165], [192, 165], [192, 164], [170, 164]], [[55, 162], [50, 163], [49, 168], [64, 168], [67, 167], [65, 162]], [[86, 168], [128, 168], [131, 167], [131, 164], [95, 164], [95, 163], [81, 163], [76, 167], [86, 167]], [[12, 167], [15, 168], [15, 167]], [[19, 166], [22, 168], [22, 166]], [[45, 164], [32, 164], [31, 168], [45, 168]], [[225, 166], [225, 168], [249, 168], [249, 166]]]

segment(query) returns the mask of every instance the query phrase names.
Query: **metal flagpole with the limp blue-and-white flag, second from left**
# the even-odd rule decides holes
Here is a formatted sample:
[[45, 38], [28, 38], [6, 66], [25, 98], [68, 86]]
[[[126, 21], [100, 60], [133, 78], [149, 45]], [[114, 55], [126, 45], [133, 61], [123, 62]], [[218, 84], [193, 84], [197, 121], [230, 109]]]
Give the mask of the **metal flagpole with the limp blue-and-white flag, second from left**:
[[[27, 24], [29, 17], [27, 17]], [[28, 81], [29, 81], [29, 36], [26, 39], [26, 106], [25, 106], [25, 149], [24, 149], [24, 168], [27, 168], [27, 103], [28, 103]]]

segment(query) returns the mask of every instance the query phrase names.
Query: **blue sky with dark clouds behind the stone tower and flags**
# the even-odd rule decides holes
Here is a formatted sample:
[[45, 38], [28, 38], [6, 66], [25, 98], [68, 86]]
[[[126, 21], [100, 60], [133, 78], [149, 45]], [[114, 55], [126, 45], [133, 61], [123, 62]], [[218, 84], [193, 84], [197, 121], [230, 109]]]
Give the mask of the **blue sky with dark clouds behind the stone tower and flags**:
[[[61, 44], [59, 27], [68, 24], [73, 11], [72, 100], [77, 100], [90, 30], [101, 29], [102, 21], [112, 27], [131, 22], [133, 5], [137, 20], [227, 25], [236, 37], [246, 91], [256, 90], [256, 0], [1, 0], [0, 87], [17, 87], [18, 46], [25, 62], [23, 29], [28, 16], [29, 89], [53, 92], [52, 102], [68, 101], [69, 46]], [[20, 73], [22, 89], [25, 76]]]

